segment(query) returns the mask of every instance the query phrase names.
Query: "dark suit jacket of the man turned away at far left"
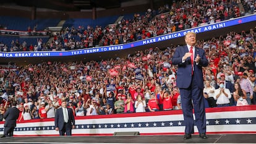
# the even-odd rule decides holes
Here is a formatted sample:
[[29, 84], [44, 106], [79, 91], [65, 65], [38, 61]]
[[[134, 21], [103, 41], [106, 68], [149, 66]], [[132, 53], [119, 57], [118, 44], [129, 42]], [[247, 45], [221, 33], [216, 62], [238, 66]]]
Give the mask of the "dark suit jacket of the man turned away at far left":
[[4, 122], [4, 127], [15, 127], [19, 114], [20, 111], [16, 107], [7, 109], [4, 113], [4, 119], [6, 120], [6, 122]]

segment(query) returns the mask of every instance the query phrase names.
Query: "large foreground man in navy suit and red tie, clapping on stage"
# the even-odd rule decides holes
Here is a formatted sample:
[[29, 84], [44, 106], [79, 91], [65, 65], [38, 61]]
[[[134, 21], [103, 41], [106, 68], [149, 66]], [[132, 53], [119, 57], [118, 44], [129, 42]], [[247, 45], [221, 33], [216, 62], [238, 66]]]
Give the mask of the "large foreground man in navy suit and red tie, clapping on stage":
[[[203, 101], [203, 72], [202, 67], [208, 66], [205, 51], [195, 47], [196, 34], [188, 32], [185, 35], [186, 45], [176, 48], [173, 54], [173, 65], [177, 65], [177, 87], [181, 94], [181, 105], [186, 125], [184, 140], [191, 138], [195, 125], [199, 132], [199, 137], [207, 139], [205, 104]], [[192, 104], [193, 103], [193, 104]]]

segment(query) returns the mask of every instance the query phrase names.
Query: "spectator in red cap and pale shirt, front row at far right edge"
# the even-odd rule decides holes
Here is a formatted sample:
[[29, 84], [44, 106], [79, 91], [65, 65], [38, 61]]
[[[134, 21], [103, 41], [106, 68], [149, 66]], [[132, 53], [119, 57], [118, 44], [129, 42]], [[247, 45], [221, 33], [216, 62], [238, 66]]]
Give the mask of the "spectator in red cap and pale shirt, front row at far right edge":
[[247, 102], [248, 104], [252, 104], [252, 99], [254, 98], [253, 95], [254, 95], [254, 90], [252, 88], [252, 85], [250, 84], [250, 80], [247, 79], [248, 75], [244, 72], [238, 72], [238, 75], [239, 75], [239, 80], [238, 82], [240, 83], [241, 85], [241, 88], [244, 89], [245, 93], [246, 93], [246, 96], [247, 96]]

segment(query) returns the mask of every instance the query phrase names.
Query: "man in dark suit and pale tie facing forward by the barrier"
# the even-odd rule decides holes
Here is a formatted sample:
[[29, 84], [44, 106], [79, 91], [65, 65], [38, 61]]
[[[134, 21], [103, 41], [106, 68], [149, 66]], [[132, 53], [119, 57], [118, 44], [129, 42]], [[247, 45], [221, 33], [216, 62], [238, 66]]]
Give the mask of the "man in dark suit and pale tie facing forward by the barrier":
[[59, 135], [72, 135], [71, 130], [75, 129], [75, 118], [72, 109], [67, 108], [67, 102], [62, 100], [61, 108], [58, 108], [55, 115], [55, 130]]

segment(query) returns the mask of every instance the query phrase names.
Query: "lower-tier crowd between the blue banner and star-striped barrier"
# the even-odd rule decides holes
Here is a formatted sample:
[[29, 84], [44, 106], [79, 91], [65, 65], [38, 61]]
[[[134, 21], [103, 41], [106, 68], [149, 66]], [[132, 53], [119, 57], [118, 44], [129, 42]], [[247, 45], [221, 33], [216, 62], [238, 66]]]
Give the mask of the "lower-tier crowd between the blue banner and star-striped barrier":
[[[251, 29], [197, 41], [209, 61], [203, 68], [207, 108], [256, 104], [255, 40]], [[0, 116], [12, 101], [19, 121], [54, 117], [63, 100], [76, 117], [182, 109], [177, 67], [171, 63], [175, 49], [156, 47], [102, 61], [1, 66]]]

